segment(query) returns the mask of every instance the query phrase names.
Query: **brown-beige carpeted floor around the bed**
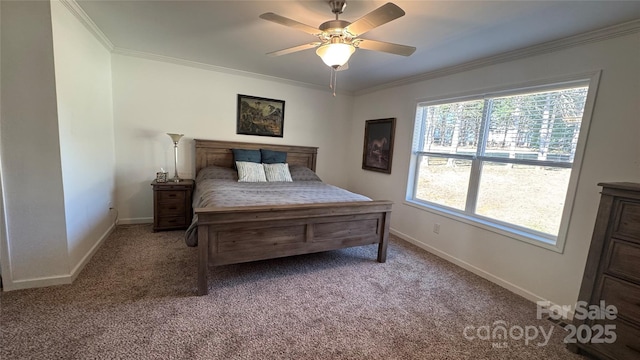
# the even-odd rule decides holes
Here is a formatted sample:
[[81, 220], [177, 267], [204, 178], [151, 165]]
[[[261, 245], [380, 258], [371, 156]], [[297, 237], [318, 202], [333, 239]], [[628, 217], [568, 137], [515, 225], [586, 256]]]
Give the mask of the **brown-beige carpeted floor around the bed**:
[[[528, 300], [401, 240], [376, 250], [212, 268], [198, 297], [183, 232], [120, 226], [72, 285], [2, 293], [0, 358], [582, 359]], [[546, 345], [517, 339], [533, 327]]]

